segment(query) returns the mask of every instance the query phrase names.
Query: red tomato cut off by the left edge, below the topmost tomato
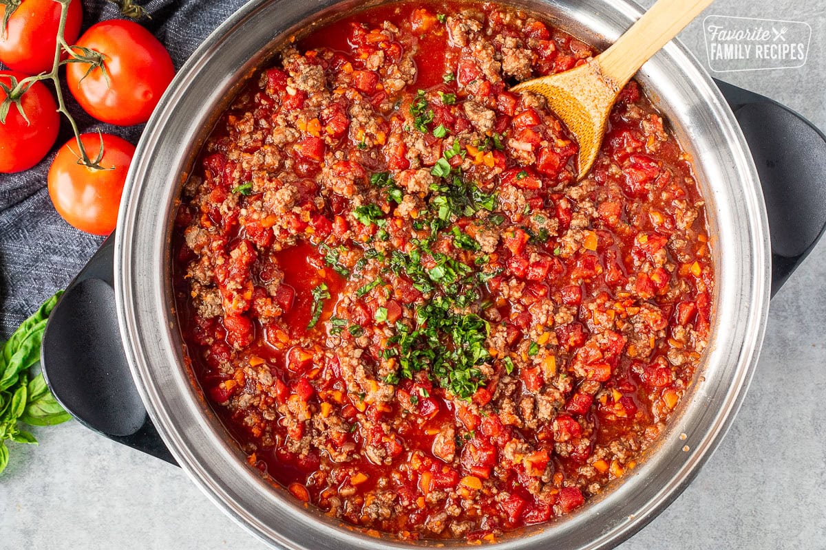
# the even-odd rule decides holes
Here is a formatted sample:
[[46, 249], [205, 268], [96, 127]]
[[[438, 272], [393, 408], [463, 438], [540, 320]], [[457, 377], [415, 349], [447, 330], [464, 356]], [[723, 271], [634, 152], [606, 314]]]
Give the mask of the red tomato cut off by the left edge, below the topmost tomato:
[[[0, 84], [12, 87], [12, 78], [26, 78], [23, 73], [0, 71]], [[0, 87], [0, 103], [7, 93]], [[20, 99], [26, 117], [17, 105], [9, 106], [6, 124], [0, 124], [0, 172], [20, 172], [35, 166], [55, 144], [60, 128], [57, 103], [43, 82], [34, 82]]]

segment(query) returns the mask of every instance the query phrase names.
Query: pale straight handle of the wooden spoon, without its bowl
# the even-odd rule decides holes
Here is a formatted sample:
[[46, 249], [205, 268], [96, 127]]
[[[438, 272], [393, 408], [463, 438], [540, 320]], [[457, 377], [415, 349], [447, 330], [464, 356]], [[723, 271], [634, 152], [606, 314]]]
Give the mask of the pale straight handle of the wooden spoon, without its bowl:
[[603, 76], [619, 91], [648, 58], [672, 40], [711, 2], [714, 0], [657, 0], [634, 26], [597, 57]]

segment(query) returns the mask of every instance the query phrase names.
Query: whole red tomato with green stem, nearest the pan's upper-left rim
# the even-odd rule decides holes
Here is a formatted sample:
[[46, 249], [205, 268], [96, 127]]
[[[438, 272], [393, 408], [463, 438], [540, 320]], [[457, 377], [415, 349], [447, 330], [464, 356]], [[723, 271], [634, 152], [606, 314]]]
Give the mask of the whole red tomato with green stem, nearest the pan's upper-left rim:
[[144, 27], [121, 19], [93, 25], [77, 45], [103, 54], [109, 75], [108, 82], [101, 68], [87, 75], [88, 63], [66, 66], [69, 90], [83, 110], [113, 125], [137, 125], [149, 120], [175, 76], [164, 45]]

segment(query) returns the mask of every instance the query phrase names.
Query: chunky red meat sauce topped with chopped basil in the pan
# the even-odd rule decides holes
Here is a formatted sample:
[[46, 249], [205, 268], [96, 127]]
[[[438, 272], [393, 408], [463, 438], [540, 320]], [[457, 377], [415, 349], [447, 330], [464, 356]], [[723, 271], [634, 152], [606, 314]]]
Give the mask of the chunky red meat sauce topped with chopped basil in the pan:
[[175, 291], [254, 468], [364, 528], [492, 541], [635, 467], [714, 275], [691, 159], [637, 82], [579, 182], [543, 98], [508, 91], [594, 54], [509, 7], [402, 2], [235, 98], [184, 186]]

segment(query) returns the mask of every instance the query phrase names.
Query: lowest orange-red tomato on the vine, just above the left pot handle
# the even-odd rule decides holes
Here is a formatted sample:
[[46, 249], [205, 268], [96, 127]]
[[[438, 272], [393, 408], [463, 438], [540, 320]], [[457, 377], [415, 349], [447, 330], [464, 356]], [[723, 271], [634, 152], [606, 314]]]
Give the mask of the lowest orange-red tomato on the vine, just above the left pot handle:
[[[73, 139], [60, 148], [49, 168], [49, 196], [63, 219], [75, 228], [95, 235], [112, 233], [117, 222], [126, 172], [135, 146], [116, 135], [103, 135], [99, 170], [78, 164], [78, 143]], [[97, 157], [100, 138], [82, 134], [89, 157]]]

